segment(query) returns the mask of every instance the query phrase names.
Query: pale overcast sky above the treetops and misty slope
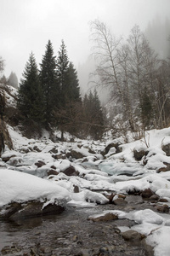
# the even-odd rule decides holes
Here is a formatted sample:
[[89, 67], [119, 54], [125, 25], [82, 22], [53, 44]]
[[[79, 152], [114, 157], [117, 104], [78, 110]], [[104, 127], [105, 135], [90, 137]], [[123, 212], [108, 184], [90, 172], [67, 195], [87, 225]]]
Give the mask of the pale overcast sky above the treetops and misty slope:
[[116, 35], [135, 24], [144, 30], [156, 15], [170, 16], [170, 0], [0, 0], [0, 56], [5, 75], [20, 79], [31, 51], [42, 61], [48, 39], [57, 55], [64, 39], [75, 67], [88, 59], [89, 21], [104, 21]]

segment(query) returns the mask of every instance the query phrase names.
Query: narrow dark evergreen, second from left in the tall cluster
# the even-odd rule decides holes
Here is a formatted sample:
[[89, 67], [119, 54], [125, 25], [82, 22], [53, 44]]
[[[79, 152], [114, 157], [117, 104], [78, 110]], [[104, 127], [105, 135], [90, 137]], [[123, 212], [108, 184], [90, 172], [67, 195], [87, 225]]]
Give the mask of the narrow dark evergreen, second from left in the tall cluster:
[[56, 60], [50, 40], [40, 64], [40, 81], [44, 97], [44, 115], [46, 125], [54, 121], [53, 109], [58, 103], [59, 88], [56, 82]]

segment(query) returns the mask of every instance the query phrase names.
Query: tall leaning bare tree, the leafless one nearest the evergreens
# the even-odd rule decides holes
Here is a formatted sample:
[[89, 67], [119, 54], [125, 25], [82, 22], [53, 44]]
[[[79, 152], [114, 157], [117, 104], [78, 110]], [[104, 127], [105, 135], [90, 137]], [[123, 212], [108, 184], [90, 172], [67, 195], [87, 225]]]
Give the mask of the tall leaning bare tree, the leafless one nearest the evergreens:
[[133, 130], [133, 111], [127, 78], [127, 47], [122, 46], [122, 38], [116, 39], [110, 29], [99, 20], [91, 22], [91, 38], [94, 42], [93, 54], [98, 63], [94, 73], [99, 77], [97, 85], [111, 90], [111, 100], [115, 108], [121, 104], [122, 117], [127, 120], [127, 127]]

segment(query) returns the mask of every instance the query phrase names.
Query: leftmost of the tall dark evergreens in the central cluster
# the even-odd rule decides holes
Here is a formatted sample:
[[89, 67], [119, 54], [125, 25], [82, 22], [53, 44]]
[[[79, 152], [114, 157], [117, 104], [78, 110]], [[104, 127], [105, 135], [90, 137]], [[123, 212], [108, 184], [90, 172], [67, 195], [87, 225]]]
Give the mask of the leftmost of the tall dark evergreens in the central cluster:
[[33, 120], [39, 125], [43, 122], [42, 90], [34, 55], [31, 53], [26, 62], [23, 79], [20, 80], [18, 108], [28, 121]]

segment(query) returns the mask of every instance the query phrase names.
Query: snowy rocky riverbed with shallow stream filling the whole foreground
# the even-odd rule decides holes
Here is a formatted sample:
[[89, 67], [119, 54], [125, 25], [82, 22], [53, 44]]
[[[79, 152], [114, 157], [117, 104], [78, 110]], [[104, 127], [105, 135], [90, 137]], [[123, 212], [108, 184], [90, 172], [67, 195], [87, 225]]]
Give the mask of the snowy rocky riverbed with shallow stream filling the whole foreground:
[[150, 148], [9, 131], [14, 150], [0, 159], [1, 255], [169, 255], [169, 129], [150, 131]]

